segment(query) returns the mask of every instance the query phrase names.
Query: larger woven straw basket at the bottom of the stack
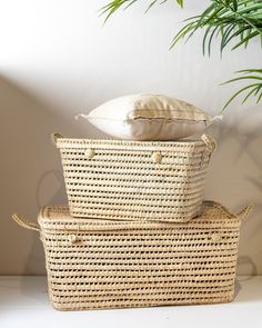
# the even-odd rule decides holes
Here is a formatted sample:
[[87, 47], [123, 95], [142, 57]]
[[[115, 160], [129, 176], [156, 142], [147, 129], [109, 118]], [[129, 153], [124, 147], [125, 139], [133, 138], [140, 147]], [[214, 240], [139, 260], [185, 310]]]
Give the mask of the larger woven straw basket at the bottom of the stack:
[[204, 202], [184, 223], [75, 219], [68, 207], [46, 207], [33, 225], [46, 251], [49, 297], [56, 309], [214, 304], [232, 300], [240, 226]]

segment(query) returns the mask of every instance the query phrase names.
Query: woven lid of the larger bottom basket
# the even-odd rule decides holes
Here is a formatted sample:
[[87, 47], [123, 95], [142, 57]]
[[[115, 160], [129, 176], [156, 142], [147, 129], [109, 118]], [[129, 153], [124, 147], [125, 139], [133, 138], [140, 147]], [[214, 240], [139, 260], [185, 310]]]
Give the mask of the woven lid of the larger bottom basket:
[[204, 201], [201, 213], [188, 222], [158, 222], [147, 220], [105, 220], [93, 218], [74, 218], [69, 213], [68, 206], [44, 207], [38, 217], [41, 230], [56, 231], [113, 231], [113, 230], [138, 230], [138, 229], [221, 229], [239, 228], [242, 219], [248, 215], [250, 207], [234, 215], [222, 205], [213, 201]]

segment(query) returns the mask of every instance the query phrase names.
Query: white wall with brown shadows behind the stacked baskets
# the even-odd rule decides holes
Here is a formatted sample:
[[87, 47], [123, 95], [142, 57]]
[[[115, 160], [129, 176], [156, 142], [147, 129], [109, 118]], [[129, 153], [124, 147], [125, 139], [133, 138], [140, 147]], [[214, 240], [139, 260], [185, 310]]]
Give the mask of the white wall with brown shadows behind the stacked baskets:
[[[58, 151], [49, 135], [99, 137], [73, 116], [134, 92], [162, 92], [218, 113], [235, 86], [219, 86], [232, 72], [261, 66], [261, 49], [201, 53], [201, 37], [169, 51], [187, 17], [209, 1], [174, 1], [144, 14], [147, 1], [117, 13], [104, 27], [99, 8], [108, 1], [9, 0], [0, 12], [0, 274], [43, 274], [37, 233], [10, 219], [19, 211], [36, 219], [41, 206], [66, 202]], [[139, 1], [140, 2], [140, 1]], [[206, 198], [232, 210], [253, 202], [243, 225], [240, 274], [262, 274], [262, 109], [234, 105], [212, 128], [219, 148]]]

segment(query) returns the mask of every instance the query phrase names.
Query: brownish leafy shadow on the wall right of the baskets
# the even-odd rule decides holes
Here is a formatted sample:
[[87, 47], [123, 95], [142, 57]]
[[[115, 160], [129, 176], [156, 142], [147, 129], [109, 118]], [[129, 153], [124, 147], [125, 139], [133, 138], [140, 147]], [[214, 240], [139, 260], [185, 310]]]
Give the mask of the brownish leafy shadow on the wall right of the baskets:
[[[210, 132], [218, 140], [211, 161], [205, 196], [239, 211], [253, 203], [243, 223], [238, 274], [262, 272], [262, 109], [233, 109]], [[249, 258], [249, 262], [243, 259]], [[250, 265], [252, 264], [252, 266]]]

